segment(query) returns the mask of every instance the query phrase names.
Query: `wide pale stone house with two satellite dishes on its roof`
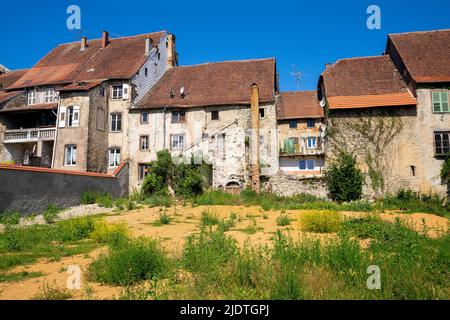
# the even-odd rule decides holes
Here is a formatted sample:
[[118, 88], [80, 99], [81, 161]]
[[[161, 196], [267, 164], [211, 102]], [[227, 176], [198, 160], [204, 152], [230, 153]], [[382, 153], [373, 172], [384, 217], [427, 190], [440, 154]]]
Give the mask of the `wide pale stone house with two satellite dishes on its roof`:
[[[253, 84], [256, 90], [251, 107]], [[277, 91], [275, 59], [168, 70], [130, 110], [130, 185], [142, 182], [147, 163], [163, 149], [180, 161], [194, 159], [211, 165], [214, 188], [239, 190], [248, 186], [255, 162], [262, 179], [275, 174]], [[259, 120], [259, 134], [252, 131], [251, 110]], [[253, 144], [255, 140], [258, 142]]]

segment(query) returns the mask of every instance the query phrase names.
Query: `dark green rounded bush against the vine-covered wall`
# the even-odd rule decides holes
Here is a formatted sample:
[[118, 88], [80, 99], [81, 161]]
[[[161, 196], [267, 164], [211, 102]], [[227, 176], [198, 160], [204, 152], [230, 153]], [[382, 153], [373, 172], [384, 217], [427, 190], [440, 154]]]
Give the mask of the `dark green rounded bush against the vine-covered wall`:
[[325, 180], [331, 199], [343, 202], [361, 198], [363, 175], [351, 154], [341, 152], [330, 164]]

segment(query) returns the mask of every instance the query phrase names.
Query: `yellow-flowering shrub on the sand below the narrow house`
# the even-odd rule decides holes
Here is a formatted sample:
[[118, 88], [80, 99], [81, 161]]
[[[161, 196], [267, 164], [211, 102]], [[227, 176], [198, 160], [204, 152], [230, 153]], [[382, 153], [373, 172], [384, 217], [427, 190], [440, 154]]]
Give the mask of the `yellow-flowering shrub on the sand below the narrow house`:
[[300, 215], [300, 225], [308, 232], [337, 232], [341, 227], [341, 216], [335, 211], [313, 211]]

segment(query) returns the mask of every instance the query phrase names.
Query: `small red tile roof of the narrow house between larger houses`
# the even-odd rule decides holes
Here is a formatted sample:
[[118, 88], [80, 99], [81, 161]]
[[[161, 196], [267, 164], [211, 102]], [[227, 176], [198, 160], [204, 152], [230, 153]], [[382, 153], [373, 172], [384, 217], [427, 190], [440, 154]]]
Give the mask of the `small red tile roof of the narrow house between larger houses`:
[[282, 92], [277, 100], [277, 119], [323, 118], [317, 91]]

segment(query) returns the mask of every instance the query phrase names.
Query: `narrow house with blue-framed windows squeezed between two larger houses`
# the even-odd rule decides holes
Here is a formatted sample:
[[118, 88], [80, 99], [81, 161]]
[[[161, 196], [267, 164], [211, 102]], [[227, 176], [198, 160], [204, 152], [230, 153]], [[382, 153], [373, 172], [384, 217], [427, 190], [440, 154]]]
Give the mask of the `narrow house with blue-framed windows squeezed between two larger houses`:
[[282, 92], [277, 99], [280, 170], [320, 177], [325, 164], [325, 121], [317, 91]]

